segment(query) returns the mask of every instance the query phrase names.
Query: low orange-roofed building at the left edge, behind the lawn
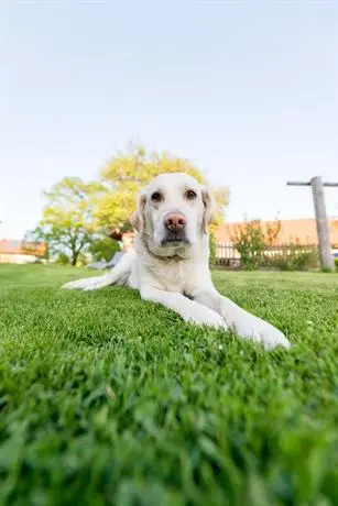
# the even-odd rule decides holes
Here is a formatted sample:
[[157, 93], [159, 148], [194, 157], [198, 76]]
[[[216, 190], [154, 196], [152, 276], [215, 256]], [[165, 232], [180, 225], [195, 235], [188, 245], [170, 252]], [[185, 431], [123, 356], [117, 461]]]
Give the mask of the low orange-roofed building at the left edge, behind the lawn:
[[47, 245], [25, 241], [0, 240], [0, 264], [34, 263], [45, 257]]

